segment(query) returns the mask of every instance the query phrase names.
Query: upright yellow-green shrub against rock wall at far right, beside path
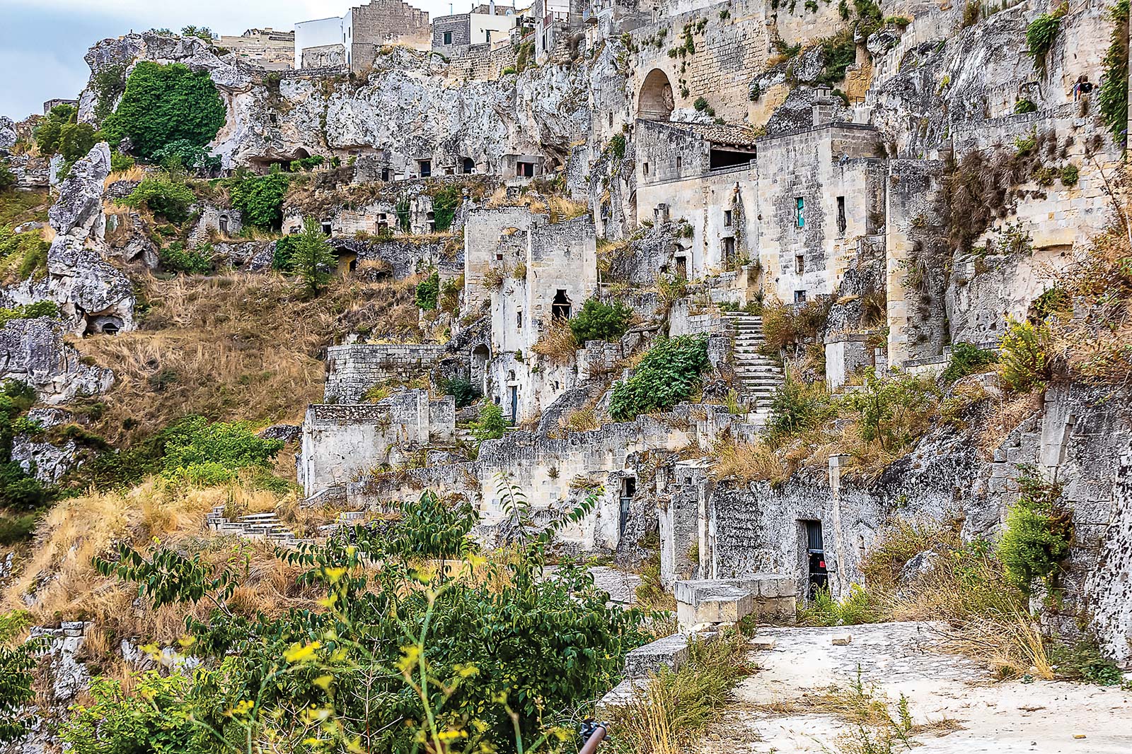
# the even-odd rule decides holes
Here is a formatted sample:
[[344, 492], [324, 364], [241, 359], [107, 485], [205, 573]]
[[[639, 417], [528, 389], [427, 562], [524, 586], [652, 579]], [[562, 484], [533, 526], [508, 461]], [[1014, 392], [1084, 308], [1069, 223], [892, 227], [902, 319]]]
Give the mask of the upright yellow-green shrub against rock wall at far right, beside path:
[[1072, 513], [1061, 505], [1061, 485], [1021, 467], [1018, 500], [1006, 512], [997, 555], [1006, 580], [1029, 595], [1035, 579], [1049, 579], [1073, 541]]

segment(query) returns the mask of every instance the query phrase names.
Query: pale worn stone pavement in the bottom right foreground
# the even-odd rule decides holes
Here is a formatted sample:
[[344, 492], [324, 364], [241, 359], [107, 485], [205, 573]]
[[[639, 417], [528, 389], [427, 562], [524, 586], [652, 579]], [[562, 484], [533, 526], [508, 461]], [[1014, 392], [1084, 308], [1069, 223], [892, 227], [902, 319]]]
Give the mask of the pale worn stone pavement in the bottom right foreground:
[[[852, 634], [851, 643], [833, 645], [833, 635], [846, 632]], [[830, 684], [848, 687], [858, 667], [878, 696], [892, 702], [901, 693], [908, 696], [914, 722], [947, 719], [961, 726], [915, 735], [918, 754], [1132, 754], [1129, 692], [1063, 682], [995, 682], [981, 666], [937, 651], [931, 624], [761, 633], [774, 636], [777, 644], [752, 652], [761, 669], [736, 688], [734, 708], [707, 730], [704, 754], [854, 751], [838, 740], [851, 726], [843, 718], [807, 711], [804, 697]], [[767, 709], [773, 705], [787, 712]], [[892, 709], [895, 714], [894, 704]]]

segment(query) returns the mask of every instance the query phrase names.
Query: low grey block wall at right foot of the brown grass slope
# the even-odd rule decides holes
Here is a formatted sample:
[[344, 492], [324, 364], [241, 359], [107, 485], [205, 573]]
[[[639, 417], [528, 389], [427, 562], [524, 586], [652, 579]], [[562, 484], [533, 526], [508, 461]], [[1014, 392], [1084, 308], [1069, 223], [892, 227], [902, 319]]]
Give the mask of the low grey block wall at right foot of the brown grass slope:
[[327, 404], [358, 404], [387, 380], [408, 382], [436, 366], [445, 347], [432, 344], [349, 344], [326, 349]]

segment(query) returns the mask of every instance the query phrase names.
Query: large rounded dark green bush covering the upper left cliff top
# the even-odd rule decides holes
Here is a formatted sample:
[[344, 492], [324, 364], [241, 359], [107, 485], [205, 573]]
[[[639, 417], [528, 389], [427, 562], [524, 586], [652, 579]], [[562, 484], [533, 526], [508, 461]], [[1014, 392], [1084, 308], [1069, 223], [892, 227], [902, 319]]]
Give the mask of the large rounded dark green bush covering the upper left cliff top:
[[204, 147], [216, 138], [225, 118], [207, 71], [143, 60], [130, 71], [126, 93], [102, 128], [112, 144], [129, 138], [136, 154], [153, 158], [175, 141]]

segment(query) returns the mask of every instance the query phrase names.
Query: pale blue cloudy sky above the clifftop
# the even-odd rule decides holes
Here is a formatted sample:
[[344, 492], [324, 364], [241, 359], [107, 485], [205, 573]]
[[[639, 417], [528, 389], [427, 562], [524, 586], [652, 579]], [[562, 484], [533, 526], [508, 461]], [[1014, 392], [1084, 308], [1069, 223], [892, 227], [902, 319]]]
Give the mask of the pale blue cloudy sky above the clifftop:
[[[216, 34], [252, 27], [290, 31], [295, 21], [341, 16], [359, 0], [0, 0], [0, 115], [23, 120], [45, 99], [75, 98], [91, 75], [83, 55], [98, 40], [189, 24]], [[410, 0], [446, 15], [449, 0]], [[455, 2], [456, 12], [470, 0]]]

